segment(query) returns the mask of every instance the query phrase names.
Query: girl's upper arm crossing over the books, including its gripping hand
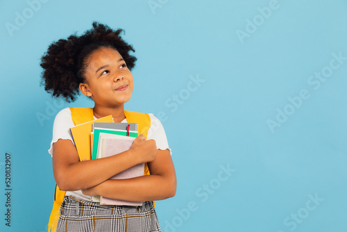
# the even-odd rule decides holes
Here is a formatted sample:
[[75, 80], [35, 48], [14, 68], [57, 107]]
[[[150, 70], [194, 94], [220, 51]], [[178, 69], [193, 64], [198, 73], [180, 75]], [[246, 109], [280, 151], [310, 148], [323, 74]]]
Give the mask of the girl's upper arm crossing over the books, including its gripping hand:
[[155, 141], [145, 140], [144, 135], [139, 135], [128, 151], [117, 156], [80, 162], [71, 140], [60, 139], [53, 144], [54, 179], [60, 190], [83, 190], [98, 185], [129, 167], [151, 162], [156, 152]]

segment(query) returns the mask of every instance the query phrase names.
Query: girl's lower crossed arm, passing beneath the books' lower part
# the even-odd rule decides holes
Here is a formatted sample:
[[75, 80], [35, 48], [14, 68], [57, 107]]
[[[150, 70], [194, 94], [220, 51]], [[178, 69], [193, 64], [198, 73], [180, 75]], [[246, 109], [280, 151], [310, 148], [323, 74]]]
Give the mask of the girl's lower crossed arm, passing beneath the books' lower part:
[[155, 159], [147, 164], [151, 172], [149, 176], [108, 180], [82, 192], [89, 196], [101, 195], [126, 201], [155, 201], [174, 197], [176, 172], [169, 150], [158, 149]]

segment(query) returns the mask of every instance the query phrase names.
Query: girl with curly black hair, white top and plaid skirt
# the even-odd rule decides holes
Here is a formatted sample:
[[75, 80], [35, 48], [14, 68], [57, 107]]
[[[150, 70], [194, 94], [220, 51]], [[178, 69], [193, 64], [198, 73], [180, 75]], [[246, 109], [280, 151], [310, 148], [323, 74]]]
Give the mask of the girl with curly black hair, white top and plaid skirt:
[[[119, 35], [122, 30], [94, 22], [81, 36], [71, 35], [49, 46], [41, 61], [42, 83], [53, 97], [74, 101], [82, 92], [94, 101], [94, 119], [112, 115], [126, 122], [124, 103], [133, 92], [130, 70], [135, 51]], [[61, 110], [53, 125], [49, 154], [54, 179], [67, 191], [60, 207], [57, 231], [160, 231], [154, 200], [176, 194], [176, 174], [162, 124], [149, 114], [147, 138], [139, 135], [132, 147], [117, 156], [80, 162], [69, 128], [74, 126], [70, 108]], [[139, 163], [147, 163], [151, 175], [109, 180]], [[97, 174], [96, 174], [97, 173]], [[92, 196], [144, 201], [142, 206], [103, 206]]]

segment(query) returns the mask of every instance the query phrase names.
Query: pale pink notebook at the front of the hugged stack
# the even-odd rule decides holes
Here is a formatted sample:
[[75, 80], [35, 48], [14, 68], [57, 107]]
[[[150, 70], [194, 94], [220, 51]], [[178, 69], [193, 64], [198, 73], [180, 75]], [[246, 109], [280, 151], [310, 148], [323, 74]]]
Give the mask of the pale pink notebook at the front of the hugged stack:
[[[108, 157], [117, 155], [123, 151], [130, 149], [135, 138], [117, 135], [117, 138], [103, 138], [101, 139], [101, 157]], [[111, 179], [129, 179], [137, 176], [144, 175], [144, 163], [130, 167], [129, 169], [112, 176]], [[137, 201], [121, 201], [117, 199], [110, 199], [107, 197], [100, 197], [100, 204], [103, 205], [117, 205], [117, 206], [142, 206], [142, 202]]]

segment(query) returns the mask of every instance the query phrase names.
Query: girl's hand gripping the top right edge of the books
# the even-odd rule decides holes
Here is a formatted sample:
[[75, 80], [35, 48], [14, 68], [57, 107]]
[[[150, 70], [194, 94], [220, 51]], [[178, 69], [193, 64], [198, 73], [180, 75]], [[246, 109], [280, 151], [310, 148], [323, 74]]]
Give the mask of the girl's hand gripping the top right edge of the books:
[[157, 155], [157, 145], [155, 144], [155, 140], [146, 140], [144, 135], [139, 135], [135, 138], [130, 150], [134, 151], [134, 154], [139, 158], [140, 163], [151, 162]]

